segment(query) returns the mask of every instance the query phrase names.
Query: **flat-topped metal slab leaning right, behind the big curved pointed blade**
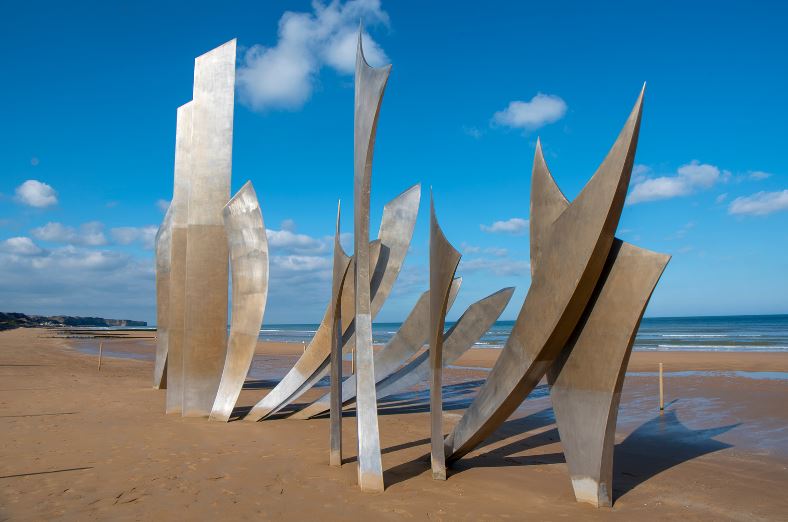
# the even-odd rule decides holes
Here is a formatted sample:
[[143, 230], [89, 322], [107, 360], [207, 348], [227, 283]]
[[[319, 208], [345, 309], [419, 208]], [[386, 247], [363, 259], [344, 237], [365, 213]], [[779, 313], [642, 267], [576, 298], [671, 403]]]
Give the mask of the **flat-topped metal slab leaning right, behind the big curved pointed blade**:
[[616, 240], [580, 325], [547, 374], [578, 501], [612, 505], [624, 374], [643, 312], [669, 260]]

